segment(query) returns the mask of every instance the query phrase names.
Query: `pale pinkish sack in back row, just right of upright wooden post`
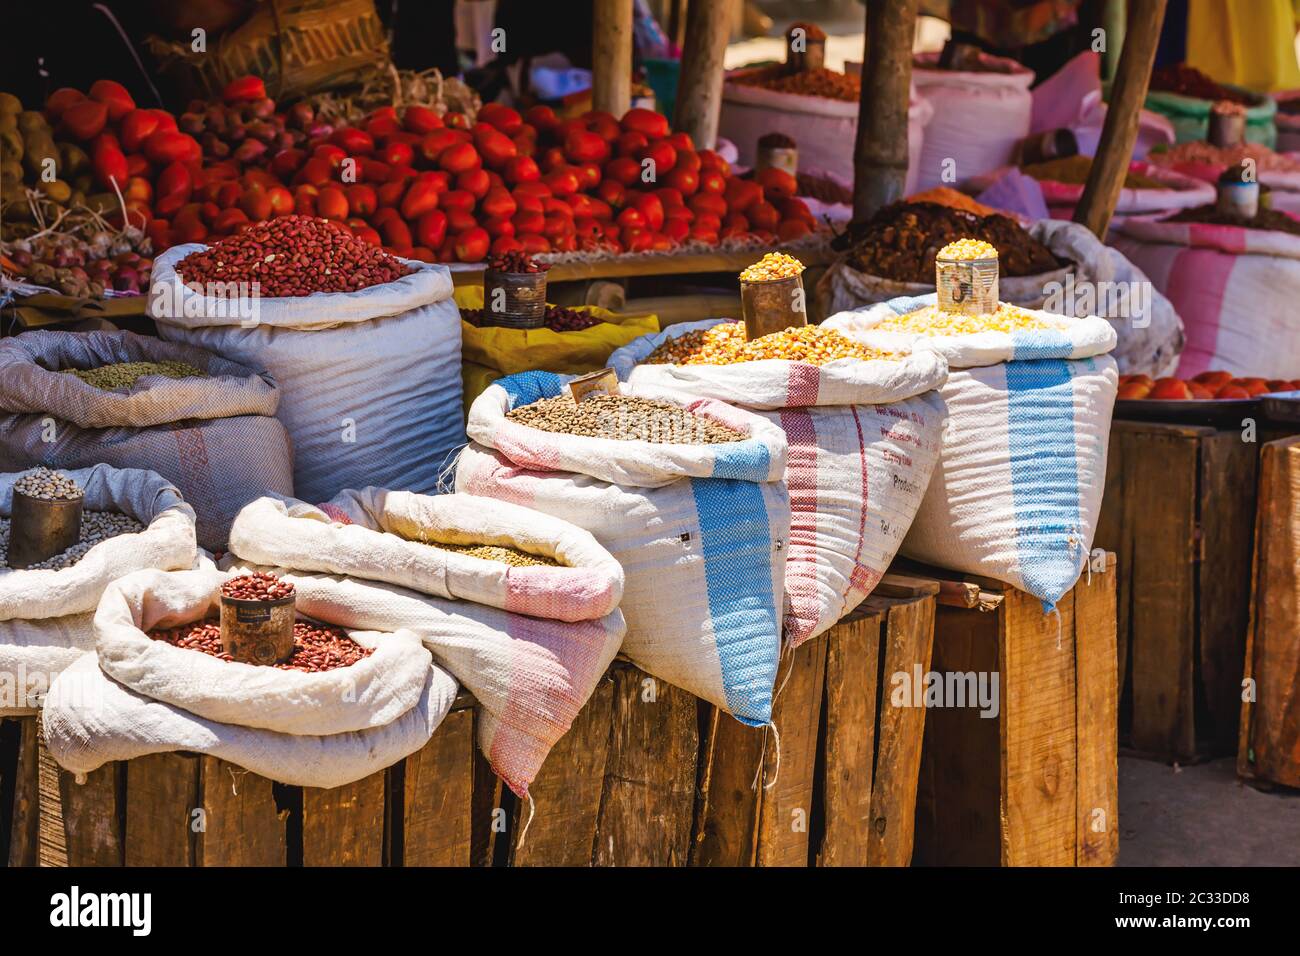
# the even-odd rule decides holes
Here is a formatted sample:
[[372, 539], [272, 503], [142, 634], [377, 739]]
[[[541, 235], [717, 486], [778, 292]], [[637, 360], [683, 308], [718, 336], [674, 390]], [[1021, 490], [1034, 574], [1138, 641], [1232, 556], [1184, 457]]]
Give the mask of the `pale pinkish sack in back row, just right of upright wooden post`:
[[945, 172], [966, 179], [1006, 165], [1017, 143], [1030, 134], [1034, 73], [988, 53], [980, 53], [980, 62], [989, 70], [941, 70], [939, 53], [913, 59], [916, 92], [935, 109], [920, 150], [918, 182], [923, 190], [944, 185]]

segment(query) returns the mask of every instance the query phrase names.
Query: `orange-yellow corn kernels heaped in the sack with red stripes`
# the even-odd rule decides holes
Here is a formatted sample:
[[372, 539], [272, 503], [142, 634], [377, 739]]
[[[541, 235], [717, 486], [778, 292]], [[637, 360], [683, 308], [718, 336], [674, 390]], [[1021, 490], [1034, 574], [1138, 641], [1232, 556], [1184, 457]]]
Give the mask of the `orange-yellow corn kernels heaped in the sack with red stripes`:
[[650, 365], [734, 365], [740, 362], [785, 359], [824, 365], [836, 359], [888, 359], [901, 355], [868, 349], [835, 329], [803, 325], [746, 341], [744, 323], [725, 323], [668, 339], [646, 359]]

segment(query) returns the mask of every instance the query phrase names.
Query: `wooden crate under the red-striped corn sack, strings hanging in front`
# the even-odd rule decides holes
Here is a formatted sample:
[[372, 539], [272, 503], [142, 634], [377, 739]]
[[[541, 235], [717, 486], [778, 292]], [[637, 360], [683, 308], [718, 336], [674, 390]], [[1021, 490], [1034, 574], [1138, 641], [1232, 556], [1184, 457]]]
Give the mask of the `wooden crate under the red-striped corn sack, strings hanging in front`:
[[776, 732], [708, 708], [693, 865], [907, 865], [926, 711], [889, 675], [930, 669], [939, 585], [900, 591], [783, 658]]

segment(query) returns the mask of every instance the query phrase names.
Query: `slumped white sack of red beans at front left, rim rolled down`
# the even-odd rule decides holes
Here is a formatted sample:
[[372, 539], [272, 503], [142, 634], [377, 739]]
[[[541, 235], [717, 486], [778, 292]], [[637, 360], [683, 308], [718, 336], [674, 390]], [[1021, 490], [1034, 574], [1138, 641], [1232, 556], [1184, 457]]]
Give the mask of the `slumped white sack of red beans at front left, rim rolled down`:
[[[428, 743], [458, 688], [415, 633], [370, 627], [343, 585], [321, 579], [295, 594], [287, 662], [234, 661], [216, 617], [234, 578], [211, 564], [144, 571], [105, 592], [95, 614], [98, 659], [64, 671], [43, 710], [61, 766], [90, 773], [194, 750], [281, 783], [339, 787]], [[246, 589], [231, 596], [256, 600]]]

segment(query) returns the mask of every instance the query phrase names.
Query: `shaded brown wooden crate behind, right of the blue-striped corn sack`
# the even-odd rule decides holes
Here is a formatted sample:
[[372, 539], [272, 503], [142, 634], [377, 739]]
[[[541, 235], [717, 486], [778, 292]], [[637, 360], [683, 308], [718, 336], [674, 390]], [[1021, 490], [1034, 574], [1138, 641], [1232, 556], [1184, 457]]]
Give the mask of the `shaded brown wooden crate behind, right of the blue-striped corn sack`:
[[1236, 747], [1258, 447], [1242, 429], [1112, 427], [1096, 544], [1119, 555], [1121, 736], [1138, 754]]

